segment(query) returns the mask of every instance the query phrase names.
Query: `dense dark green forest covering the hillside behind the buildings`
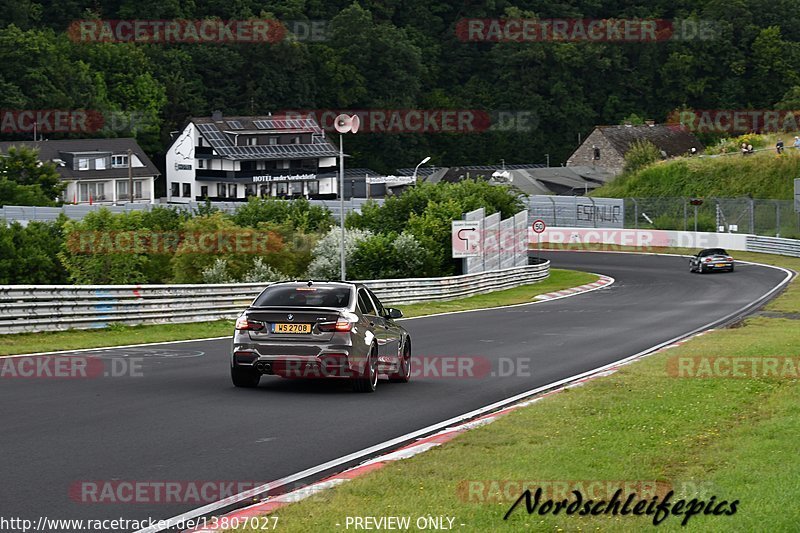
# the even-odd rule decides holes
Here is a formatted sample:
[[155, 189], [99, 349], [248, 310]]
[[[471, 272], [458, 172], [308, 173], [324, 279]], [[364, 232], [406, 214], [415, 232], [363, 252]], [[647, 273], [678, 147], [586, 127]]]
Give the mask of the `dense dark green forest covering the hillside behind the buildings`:
[[[676, 109], [800, 108], [800, 7], [792, 0], [5, 0], [0, 109], [113, 116], [154, 157], [191, 115], [308, 109], [523, 113], [481, 133], [364, 133], [354, 166], [559, 164], [596, 124]], [[316, 21], [322, 38], [272, 43], [83, 42], [79, 20]], [[710, 24], [711, 38], [658, 42], [469, 42], [463, 19], [659, 19]], [[302, 26], [302, 25], [301, 25]], [[522, 115], [521, 115], [522, 116]], [[106, 124], [109, 124], [108, 118]], [[497, 125], [497, 122], [494, 123]], [[132, 127], [131, 127], [132, 126]], [[58, 134], [45, 134], [55, 138]], [[19, 134], [1, 134], [2, 140]]]

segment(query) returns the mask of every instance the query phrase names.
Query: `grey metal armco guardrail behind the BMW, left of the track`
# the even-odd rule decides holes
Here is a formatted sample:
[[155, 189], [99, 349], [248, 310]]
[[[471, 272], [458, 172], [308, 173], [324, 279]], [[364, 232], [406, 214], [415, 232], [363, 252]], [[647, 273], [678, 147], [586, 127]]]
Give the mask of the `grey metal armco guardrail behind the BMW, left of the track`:
[[[363, 283], [387, 304], [449, 300], [546, 278], [550, 263], [443, 278]], [[267, 283], [0, 286], [0, 333], [234, 318]]]

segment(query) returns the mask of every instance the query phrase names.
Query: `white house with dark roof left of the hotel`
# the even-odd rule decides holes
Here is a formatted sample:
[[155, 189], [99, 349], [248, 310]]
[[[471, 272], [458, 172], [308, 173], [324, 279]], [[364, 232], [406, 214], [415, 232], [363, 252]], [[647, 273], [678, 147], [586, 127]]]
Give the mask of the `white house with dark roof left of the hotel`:
[[56, 165], [56, 171], [67, 184], [61, 199], [64, 203], [155, 202], [155, 180], [160, 173], [135, 139], [8, 141], [0, 142], [0, 154], [8, 153], [14, 146], [35, 149], [40, 161]]

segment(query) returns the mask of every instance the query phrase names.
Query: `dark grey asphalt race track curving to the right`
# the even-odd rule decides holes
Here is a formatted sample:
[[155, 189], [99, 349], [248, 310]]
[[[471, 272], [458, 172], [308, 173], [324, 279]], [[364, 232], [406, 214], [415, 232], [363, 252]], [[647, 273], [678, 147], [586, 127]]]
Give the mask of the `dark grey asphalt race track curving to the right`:
[[[169, 518], [203, 502], [81, 503], [70, 488], [275, 480], [673, 339], [747, 306], [785, 277], [744, 264], [733, 274], [690, 274], [682, 257], [542, 255], [554, 267], [616, 283], [535, 305], [404, 321], [414, 357], [486, 358], [476, 360], [491, 372], [479, 376], [381, 381], [371, 395], [275, 377], [236, 389], [229, 341], [210, 340], [92, 352], [118, 368], [138, 361], [136, 376], [0, 379], [0, 516]], [[510, 369], [519, 372], [500, 375]]]

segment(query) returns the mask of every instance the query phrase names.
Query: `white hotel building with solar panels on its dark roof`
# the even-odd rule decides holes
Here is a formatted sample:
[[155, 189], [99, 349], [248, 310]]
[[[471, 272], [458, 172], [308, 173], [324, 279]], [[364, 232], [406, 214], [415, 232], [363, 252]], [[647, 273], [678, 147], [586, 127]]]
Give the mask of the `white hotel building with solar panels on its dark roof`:
[[333, 198], [338, 153], [311, 118], [194, 117], [167, 150], [167, 199]]

